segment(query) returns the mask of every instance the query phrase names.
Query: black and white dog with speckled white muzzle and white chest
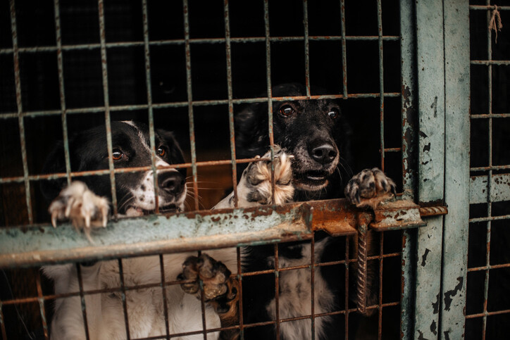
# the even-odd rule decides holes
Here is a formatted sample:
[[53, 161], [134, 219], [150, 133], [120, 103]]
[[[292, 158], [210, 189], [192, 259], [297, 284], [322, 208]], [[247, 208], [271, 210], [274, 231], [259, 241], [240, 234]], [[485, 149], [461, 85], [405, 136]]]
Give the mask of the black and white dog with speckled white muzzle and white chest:
[[[125, 121], [112, 122], [113, 163], [115, 168], [142, 167], [151, 164], [149, 132], [147, 125]], [[173, 134], [156, 131], [156, 166], [184, 163], [182, 151]], [[108, 168], [105, 127], [95, 127], [80, 132], [69, 141], [70, 165], [73, 171], [101, 170]], [[280, 204], [292, 199], [292, 171], [290, 160], [278, 151], [275, 158], [275, 200], [271, 199], [270, 172], [268, 161], [252, 163], [244, 172], [239, 186], [240, 206], [253, 206], [257, 197], [263, 203]], [[59, 144], [49, 156], [45, 172], [64, 172], [63, 146]], [[108, 217], [111, 189], [109, 175], [82, 177], [65, 187], [65, 182], [45, 182], [44, 194], [54, 199], [49, 207], [51, 220], [69, 219], [77, 229], [93, 243], [89, 232], [94, 227], [105, 227]], [[160, 211], [183, 210], [186, 196], [185, 170], [158, 169], [158, 204]], [[138, 216], [154, 213], [154, 173], [151, 170], [140, 173], [118, 173], [115, 175], [118, 213]], [[64, 188], [64, 189], [62, 189]], [[59, 193], [60, 191], [60, 193]], [[225, 199], [221, 206], [228, 206]], [[235, 279], [230, 276], [237, 267], [235, 249], [208, 251], [200, 258], [196, 253], [167, 254], [163, 256], [166, 281], [178, 277], [204, 282], [206, 301], [206, 327], [218, 328], [232, 325], [237, 320], [237, 291]], [[220, 262], [216, 262], [216, 259]], [[80, 265], [85, 291], [97, 289], [118, 289], [120, 276], [118, 261], [101, 261]], [[230, 269], [230, 270], [229, 270]], [[44, 274], [53, 279], [56, 294], [79, 291], [76, 266], [73, 264], [53, 265], [43, 268]], [[161, 282], [158, 256], [123, 259], [123, 277], [126, 287]], [[165, 306], [161, 287], [129, 289], [126, 304], [130, 336], [144, 338], [166, 334]], [[201, 303], [198, 282], [170, 285], [166, 287], [168, 328], [172, 334], [197, 332], [202, 329]], [[87, 329], [90, 339], [126, 339], [123, 301], [120, 291], [110, 294], [85, 295], [87, 306]], [[212, 339], [220, 336], [210, 333]], [[223, 337], [236, 334], [223, 332]], [[202, 334], [180, 337], [179, 339], [202, 339]], [[85, 339], [85, 325], [79, 296], [58, 298], [51, 322], [51, 339]]]

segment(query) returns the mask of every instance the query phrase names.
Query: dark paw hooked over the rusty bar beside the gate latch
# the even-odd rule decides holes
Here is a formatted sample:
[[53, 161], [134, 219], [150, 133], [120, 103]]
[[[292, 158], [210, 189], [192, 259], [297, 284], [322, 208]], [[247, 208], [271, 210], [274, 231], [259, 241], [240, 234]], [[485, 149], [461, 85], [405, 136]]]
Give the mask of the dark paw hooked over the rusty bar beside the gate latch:
[[345, 197], [357, 207], [375, 207], [397, 194], [395, 183], [378, 168], [365, 169], [352, 177], [345, 187]]

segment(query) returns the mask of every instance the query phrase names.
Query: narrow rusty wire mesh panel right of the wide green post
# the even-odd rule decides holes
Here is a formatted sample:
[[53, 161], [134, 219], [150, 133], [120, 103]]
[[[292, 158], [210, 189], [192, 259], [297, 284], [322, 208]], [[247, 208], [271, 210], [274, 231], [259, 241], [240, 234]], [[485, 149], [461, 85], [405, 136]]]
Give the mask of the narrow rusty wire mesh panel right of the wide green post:
[[[510, 158], [508, 29], [498, 28], [509, 6], [504, 1], [470, 1], [471, 22], [471, 199], [466, 339], [506, 336], [509, 283]], [[501, 5], [501, 6], [500, 6]], [[495, 20], [495, 29], [490, 28]], [[506, 30], [506, 31], [505, 31]]]

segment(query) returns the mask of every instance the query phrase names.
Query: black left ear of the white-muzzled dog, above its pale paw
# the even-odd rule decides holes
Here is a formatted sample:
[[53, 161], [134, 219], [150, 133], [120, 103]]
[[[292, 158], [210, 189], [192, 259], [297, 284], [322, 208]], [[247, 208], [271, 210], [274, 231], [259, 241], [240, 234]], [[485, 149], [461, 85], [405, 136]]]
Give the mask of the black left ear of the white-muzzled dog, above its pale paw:
[[[42, 168], [43, 174], [54, 174], [66, 172], [66, 160], [64, 158], [63, 142], [58, 141], [54, 149], [49, 153], [46, 162]], [[58, 196], [58, 193], [66, 187], [67, 180], [59, 178], [57, 180], [42, 180], [39, 187], [42, 191], [44, 199], [50, 202]]]

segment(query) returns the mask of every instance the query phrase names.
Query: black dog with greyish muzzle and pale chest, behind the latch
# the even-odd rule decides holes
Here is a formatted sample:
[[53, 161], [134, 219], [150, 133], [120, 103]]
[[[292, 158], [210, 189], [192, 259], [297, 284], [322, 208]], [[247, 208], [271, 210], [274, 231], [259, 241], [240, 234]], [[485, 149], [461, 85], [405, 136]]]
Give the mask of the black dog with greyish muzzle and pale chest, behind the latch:
[[[300, 84], [282, 84], [273, 88], [273, 97], [305, 96]], [[255, 103], [235, 116], [236, 151], [238, 158], [263, 154], [269, 146], [268, 106]], [[332, 199], [345, 196], [356, 205], [368, 199], [395, 191], [395, 184], [378, 169], [363, 170], [351, 177], [347, 169], [351, 130], [334, 100], [273, 101], [274, 142], [294, 156], [294, 201]], [[342, 248], [337, 239], [318, 232], [315, 236], [316, 262], [325, 262], [332, 253]], [[254, 247], [247, 253], [247, 270], [266, 270], [273, 267], [273, 247]], [[341, 254], [341, 252], [340, 252]], [[280, 244], [279, 265], [309, 265], [309, 242]], [[315, 273], [315, 313], [343, 309], [344, 281], [337, 267], [321, 267]], [[269, 276], [269, 277], [268, 277]], [[280, 272], [280, 319], [311, 313], [310, 270]], [[275, 287], [272, 275], [243, 279], [244, 320], [262, 322], [275, 319]], [[315, 320], [316, 339], [335, 339], [343, 334], [343, 321], [334, 317]], [[248, 339], [275, 339], [275, 329], [253, 327], [245, 331]], [[310, 339], [310, 320], [282, 322], [283, 339]]]

